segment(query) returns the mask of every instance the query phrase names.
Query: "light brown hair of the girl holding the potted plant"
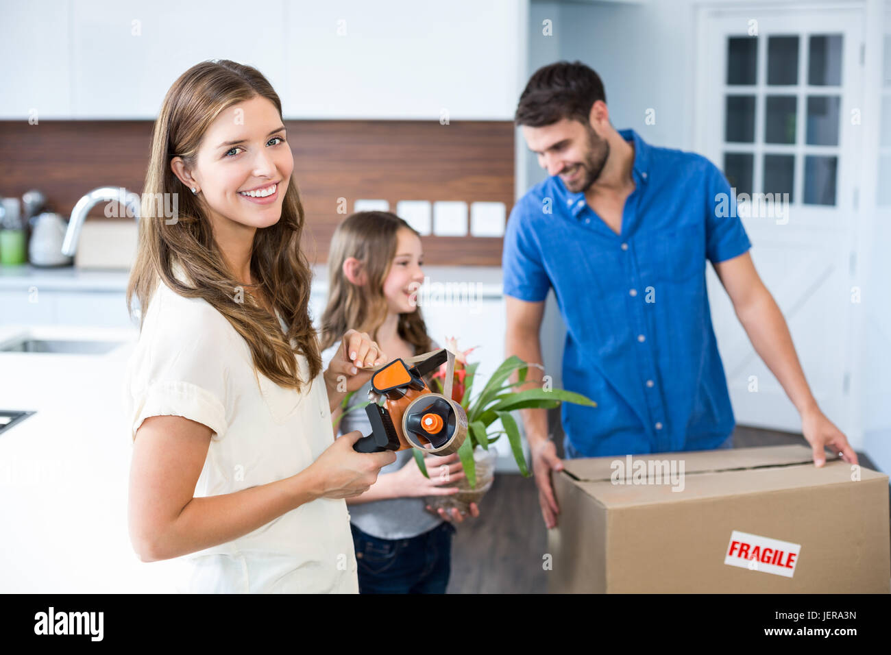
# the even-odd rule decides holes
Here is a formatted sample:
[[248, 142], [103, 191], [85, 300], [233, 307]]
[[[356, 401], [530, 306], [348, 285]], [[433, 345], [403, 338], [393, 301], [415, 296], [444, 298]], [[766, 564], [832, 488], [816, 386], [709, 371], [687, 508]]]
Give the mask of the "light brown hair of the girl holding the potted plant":
[[[400, 229], [417, 234], [411, 225], [388, 211], [360, 211], [338, 225], [331, 238], [328, 256], [328, 306], [322, 315], [322, 349], [330, 348], [348, 328], [368, 332], [377, 340], [380, 324], [387, 317], [383, 286], [396, 256]], [[343, 263], [354, 257], [362, 262], [368, 283], [358, 287], [347, 280]], [[414, 347], [415, 354], [429, 352], [430, 338], [421, 308], [400, 314], [399, 337]]]

